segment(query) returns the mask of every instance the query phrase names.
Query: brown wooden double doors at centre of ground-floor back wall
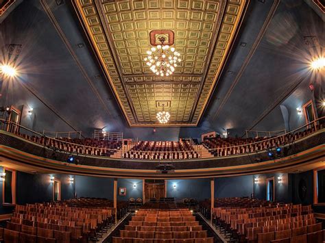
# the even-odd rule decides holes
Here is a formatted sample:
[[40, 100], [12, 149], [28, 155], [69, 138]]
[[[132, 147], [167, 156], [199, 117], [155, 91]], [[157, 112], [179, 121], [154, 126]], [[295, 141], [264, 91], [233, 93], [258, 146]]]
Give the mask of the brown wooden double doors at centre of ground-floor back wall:
[[165, 180], [145, 180], [145, 202], [165, 197]]

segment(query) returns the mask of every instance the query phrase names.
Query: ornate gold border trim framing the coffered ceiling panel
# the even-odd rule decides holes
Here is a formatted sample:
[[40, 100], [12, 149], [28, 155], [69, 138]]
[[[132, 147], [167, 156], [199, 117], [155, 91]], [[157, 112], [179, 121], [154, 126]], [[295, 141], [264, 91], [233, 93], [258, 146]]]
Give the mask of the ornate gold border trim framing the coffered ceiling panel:
[[[243, 15], [245, 13], [245, 9], [247, 7], [248, 1], [246, 1], [246, 0], [226, 1], [225, 12], [222, 14], [221, 18], [219, 17], [220, 20], [222, 19], [221, 27], [224, 27], [227, 25], [226, 24], [226, 16], [227, 17], [235, 16], [233, 18], [234, 21], [231, 23], [231, 27], [230, 27], [230, 24], [228, 23], [228, 25], [229, 25], [228, 28], [229, 28], [230, 33], [228, 34], [228, 40], [224, 41], [225, 47], [223, 49], [223, 53], [221, 54], [221, 57], [218, 59], [217, 62], [215, 60], [213, 60], [213, 58], [216, 57], [216, 55], [219, 55], [219, 54], [216, 54], [216, 52], [215, 52], [218, 49], [213, 49], [214, 54], [212, 55], [212, 60], [211, 60], [210, 64], [213, 64], [215, 66], [213, 67], [213, 69], [211, 69], [211, 65], [210, 65], [208, 67], [208, 72], [206, 73], [206, 78], [204, 79], [204, 83], [199, 82], [200, 88], [198, 89], [199, 91], [196, 93], [196, 98], [195, 98], [197, 103], [195, 103], [195, 102], [193, 103], [193, 105], [195, 107], [195, 112], [190, 112], [191, 117], [189, 119], [191, 119], [191, 120], [189, 120], [188, 122], [183, 120], [181, 123], [176, 121], [175, 123], [170, 123], [167, 125], [159, 125], [154, 120], [150, 120], [150, 121], [144, 120], [144, 121], [139, 122], [138, 116], [137, 115], [135, 116], [134, 106], [131, 104], [130, 97], [128, 97], [129, 96], [128, 91], [125, 90], [125, 88], [123, 88], [123, 86], [125, 86], [125, 84], [123, 83], [123, 80], [121, 79], [121, 66], [120, 66], [119, 62], [116, 61], [116, 54], [113, 53], [113, 50], [115, 50], [115, 48], [112, 49], [112, 44], [109, 44], [110, 41], [108, 38], [108, 34], [107, 33], [103, 34], [107, 25], [103, 25], [104, 16], [102, 16], [103, 13], [99, 9], [102, 10], [102, 8], [103, 8], [102, 4], [106, 4], [106, 3], [101, 3], [100, 6], [98, 6], [99, 3], [97, 1], [96, 1], [96, 3], [97, 4], [95, 4], [94, 2], [91, 2], [91, 1], [82, 1], [81, 2], [81, 0], [73, 0], [73, 6], [79, 16], [82, 27], [84, 28], [86, 35], [91, 42], [91, 46], [93, 47], [93, 49], [96, 53], [97, 59], [99, 59], [102, 68], [104, 68], [104, 70], [105, 70], [106, 77], [108, 77], [110, 86], [112, 87], [112, 90], [115, 93], [115, 97], [117, 98], [119, 106], [121, 107], [121, 110], [123, 111], [123, 114], [124, 114], [126, 120], [128, 120], [128, 124], [130, 125], [130, 127], [180, 127], [180, 126], [193, 127], [193, 126], [197, 126], [197, 124], [199, 123], [200, 118], [202, 117], [202, 114], [206, 108], [209, 97], [215, 88], [215, 84], [217, 82], [217, 77], [219, 76], [219, 73], [221, 72], [221, 67], [224, 66], [224, 63], [226, 62], [226, 58], [228, 57], [230, 49], [232, 48], [233, 40], [238, 33], [238, 29], [239, 29], [241, 21], [243, 20]], [[121, 4], [125, 3], [127, 5], [130, 2], [125, 1], [123, 3], [122, 2], [117, 2], [117, 3], [121, 3]], [[216, 2], [214, 2], [214, 3], [216, 3]], [[234, 8], [234, 7], [236, 7], [235, 15], [231, 15], [231, 14], [229, 15], [228, 12], [231, 12], [232, 11], [231, 8]], [[115, 10], [115, 12], [114, 12], [115, 14], [117, 13], [116, 11], [117, 10]], [[89, 13], [91, 13], [91, 14], [89, 14]], [[234, 14], [234, 13], [232, 13], [232, 14]], [[104, 20], [107, 21], [106, 18], [104, 18]], [[95, 24], [92, 24], [91, 21], [95, 21]], [[94, 34], [94, 32], [93, 32], [92, 28], [94, 28], [94, 26], [96, 28], [98, 28], [98, 31], [99, 31], [98, 33], [100, 33], [100, 36], [101, 36], [101, 42], [97, 42], [97, 40], [95, 38], [95, 37], [98, 38], [98, 36], [96, 36], [96, 34]], [[222, 33], [224, 33], [224, 32], [222, 32]], [[218, 31], [218, 33], [217, 33], [218, 37], [219, 37], [219, 34], [221, 34], [221, 31]], [[102, 38], [102, 36], [105, 36], [105, 38]], [[218, 44], [219, 44], [219, 41], [220, 40], [218, 39], [217, 40]], [[108, 66], [107, 66], [108, 64], [106, 63], [105, 58], [101, 55], [101, 49], [99, 49], [99, 44], [102, 44], [103, 46], [108, 47], [107, 51], [106, 51], [106, 60], [108, 60], [108, 59], [110, 60], [109, 61], [110, 68], [108, 68]], [[212, 70], [213, 70], [213, 73], [210, 73], [209, 71], [212, 71]], [[112, 75], [110, 74], [110, 71], [113, 71], [113, 73], [115, 73], [116, 77], [115, 76], [112, 77]], [[211, 79], [211, 81], [209, 81], [210, 83], [208, 83], [207, 77], [209, 77]], [[115, 81], [112, 81], [113, 78], [115, 79]], [[195, 84], [195, 83], [193, 83], [193, 84]], [[121, 89], [118, 90], [117, 86], [119, 86]], [[200, 92], [200, 89], [202, 87], [204, 87], [205, 91]], [[123, 97], [124, 97], [123, 101], [121, 100], [121, 97], [120, 97], [121, 92], [122, 93], [124, 92], [123, 93]], [[206, 92], [206, 93], [204, 93], [204, 92]], [[203, 95], [203, 93], [204, 93], [204, 95]], [[198, 105], [199, 103], [200, 103], [200, 105]], [[191, 107], [191, 110], [193, 111], [193, 106]]]

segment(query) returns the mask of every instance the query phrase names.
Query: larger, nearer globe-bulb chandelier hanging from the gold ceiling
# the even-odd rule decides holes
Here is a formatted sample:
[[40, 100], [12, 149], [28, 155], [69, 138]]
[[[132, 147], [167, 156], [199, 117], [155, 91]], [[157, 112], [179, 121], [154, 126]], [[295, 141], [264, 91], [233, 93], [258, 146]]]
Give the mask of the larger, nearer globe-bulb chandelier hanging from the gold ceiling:
[[159, 41], [161, 44], [147, 51], [148, 55], [144, 61], [150, 67], [152, 73], [161, 77], [169, 76], [175, 71], [177, 62], [182, 60], [180, 59], [180, 53], [175, 51], [174, 47], [169, 48], [169, 45], [164, 44], [164, 37], [160, 37]]

